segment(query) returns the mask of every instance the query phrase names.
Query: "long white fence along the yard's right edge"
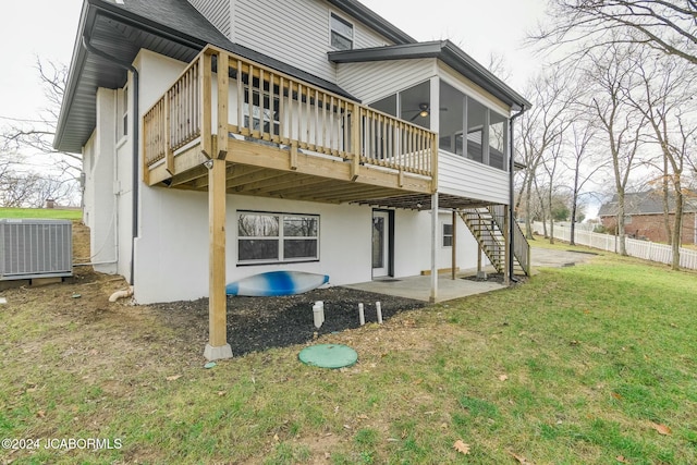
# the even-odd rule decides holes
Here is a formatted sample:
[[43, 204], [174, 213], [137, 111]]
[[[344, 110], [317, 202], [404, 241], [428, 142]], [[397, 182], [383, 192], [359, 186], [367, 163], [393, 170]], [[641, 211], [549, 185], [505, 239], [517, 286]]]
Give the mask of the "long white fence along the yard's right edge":
[[[542, 233], [542, 223], [534, 222], [533, 231]], [[549, 231], [549, 225], [548, 225]], [[571, 228], [554, 224], [554, 238], [560, 241], [571, 241]], [[576, 244], [587, 245], [589, 247], [599, 248], [601, 250], [614, 252], [620, 250], [619, 238], [611, 234], [600, 234], [590, 231], [576, 229], [574, 232]], [[650, 241], [639, 241], [636, 238], [626, 240], [627, 254], [632, 257], [643, 258], [645, 260], [658, 261], [670, 265], [673, 261], [671, 246], [665, 244], [657, 244]], [[680, 266], [690, 270], [697, 270], [697, 250], [681, 247]]]

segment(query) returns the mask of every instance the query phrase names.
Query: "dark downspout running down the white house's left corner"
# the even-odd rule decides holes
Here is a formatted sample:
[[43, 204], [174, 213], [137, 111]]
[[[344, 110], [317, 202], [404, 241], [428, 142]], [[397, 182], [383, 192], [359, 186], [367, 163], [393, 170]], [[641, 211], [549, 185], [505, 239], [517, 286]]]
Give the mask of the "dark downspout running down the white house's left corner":
[[139, 109], [138, 109], [138, 70], [136, 70], [136, 68], [131, 64], [127, 63], [125, 61], [121, 61], [115, 57], [110, 56], [109, 53], [101, 51], [99, 49], [96, 49], [91, 44], [90, 44], [90, 38], [85, 34], [83, 35], [83, 39], [82, 39], [82, 45], [85, 48], [85, 50], [87, 50], [90, 53], [96, 54], [97, 57], [103, 58], [105, 60], [108, 60], [109, 62], [126, 70], [130, 71], [131, 73], [133, 73], [133, 115], [132, 115], [132, 121], [133, 121], [133, 130], [132, 130], [132, 134], [133, 134], [133, 218], [132, 218], [132, 224], [133, 224], [133, 229], [132, 229], [132, 237], [131, 237], [131, 277], [129, 280], [129, 284], [131, 284], [133, 286], [134, 283], [134, 270], [135, 270], [135, 238], [138, 235], [138, 137], [139, 137], [139, 124], [138, 124], [138, 114], [139, 114]]

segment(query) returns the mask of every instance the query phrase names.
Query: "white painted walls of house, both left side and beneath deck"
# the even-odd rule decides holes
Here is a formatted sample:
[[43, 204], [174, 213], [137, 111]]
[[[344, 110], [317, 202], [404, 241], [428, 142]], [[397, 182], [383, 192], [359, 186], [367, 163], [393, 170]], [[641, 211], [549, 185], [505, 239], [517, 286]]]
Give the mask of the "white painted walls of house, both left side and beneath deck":
[[[142, 51], [134, 62], [139, 71], [138, 122], [179, 76], [185, 63]], [[129, 115], [134, 114], [133, 89]], [[118, 265], [101, 271], [131, 278], [132, 244], [135, 244], [135, 298], [142, 304], [195, 299], [208, 295], [208, 194], [149, 187], [138, 173], [137, 236], [133, 241], [133, 132], [117, 140], [119, 90], [98, 93], [98, 125], [85, 147], [90, 167], [85, 210], [94, 229], [93, 247], [106, 244], [103, 257]], [[140, 131], [142, 134], [142, 131]], [[236, 218], [240, 210], [319, 216], [319, 260], [293, 264], [247, 265], [237, 262]], [[250, 196], [227, 197], [227, 282], [272, 270], [298, 270], [329, 274], [331, 284], [370, 281], [372, 211], [368, 206], [316, 204]], [[476, 242], [457, 219], [457, 264], [476, 266]], [[440, 213], [436, 237], [437, 267], [451, 267], [451, 248], [443, 246], [442, 223], [452, 222], [450, 212]], [[430, 270], [431, 213], [394, 211], [394, 276], [407, 277]], [[106, 242], [102, 240], [106, 238]]]

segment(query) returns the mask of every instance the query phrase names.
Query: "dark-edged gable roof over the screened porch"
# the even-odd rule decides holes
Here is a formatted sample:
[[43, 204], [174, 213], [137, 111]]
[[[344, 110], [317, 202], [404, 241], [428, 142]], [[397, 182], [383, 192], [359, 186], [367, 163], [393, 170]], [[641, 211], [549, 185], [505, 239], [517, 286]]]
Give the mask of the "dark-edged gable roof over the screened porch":
[[489, 70], [477, 63], [477, 61], [450, 40], [331, 51], [328, 56], [329, 60], [334, 63], [437, 58], [499, 100], [512, 107], [513, 110], [518, 111], [523, 108], [529, 109], [533, 107], [533, 103], [504, 84], [503, 81], [494, 76]]

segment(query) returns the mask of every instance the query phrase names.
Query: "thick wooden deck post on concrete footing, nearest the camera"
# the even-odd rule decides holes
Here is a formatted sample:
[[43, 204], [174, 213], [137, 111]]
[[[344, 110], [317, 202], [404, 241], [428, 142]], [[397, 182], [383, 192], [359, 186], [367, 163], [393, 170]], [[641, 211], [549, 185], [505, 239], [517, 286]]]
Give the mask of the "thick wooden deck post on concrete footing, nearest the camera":
[[204, 356], [209, 360], [232, 357], [228, 344], [225, 295], [225, 161], [210, 159], [208, 170], [209, 225], [209, 339]]

